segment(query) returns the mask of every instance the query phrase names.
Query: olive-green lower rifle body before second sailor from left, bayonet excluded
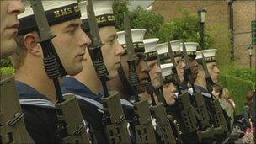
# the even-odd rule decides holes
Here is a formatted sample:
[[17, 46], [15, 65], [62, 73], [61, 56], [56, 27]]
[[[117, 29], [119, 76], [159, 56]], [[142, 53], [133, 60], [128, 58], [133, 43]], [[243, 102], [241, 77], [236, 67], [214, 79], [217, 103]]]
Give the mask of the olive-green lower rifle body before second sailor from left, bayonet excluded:
[[[86, 127], [80, 111], [76, 96], [65, 95], [65, 101], [55, 104], [61, 141], [64, 143], [88, 143]], [[64, 124], [64, 125], [63, 125]], [[61, 128], [61, 126], [64, 126]], [[63, 134], [63, 135], [62, 135]]]

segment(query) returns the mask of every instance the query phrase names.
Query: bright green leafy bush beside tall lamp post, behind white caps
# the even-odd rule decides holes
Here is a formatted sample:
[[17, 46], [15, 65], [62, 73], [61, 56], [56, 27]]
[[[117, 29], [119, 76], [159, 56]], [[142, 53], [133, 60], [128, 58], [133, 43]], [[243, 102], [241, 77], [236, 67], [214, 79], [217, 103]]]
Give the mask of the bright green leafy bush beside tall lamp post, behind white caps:
[[[180, 9], [182, 17], [173, 18], [171, 21], [163, 24], [162, 29], [157, 32], [160, 42], [164, 42], [171, 37], [171, 40], [183, 39], [185, 41], [200, 42], [200, 25], [197, 15], [189, 13], [186, 9]], [[205, 47], [212, 45], [211, 37], [206, 33]]]

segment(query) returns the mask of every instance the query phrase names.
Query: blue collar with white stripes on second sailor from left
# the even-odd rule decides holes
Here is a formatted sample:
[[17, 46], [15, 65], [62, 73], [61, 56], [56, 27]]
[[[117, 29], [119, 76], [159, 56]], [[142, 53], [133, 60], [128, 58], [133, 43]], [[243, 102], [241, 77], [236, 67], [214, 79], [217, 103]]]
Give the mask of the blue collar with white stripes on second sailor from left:
[[15, 81], [19, 103], [22, 105], [34, 105], [43, 108], [55, 108], [54, 104], [44, 94], [41, 94], [35, 88], [30, 87], [26, 83]]

